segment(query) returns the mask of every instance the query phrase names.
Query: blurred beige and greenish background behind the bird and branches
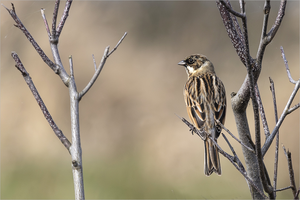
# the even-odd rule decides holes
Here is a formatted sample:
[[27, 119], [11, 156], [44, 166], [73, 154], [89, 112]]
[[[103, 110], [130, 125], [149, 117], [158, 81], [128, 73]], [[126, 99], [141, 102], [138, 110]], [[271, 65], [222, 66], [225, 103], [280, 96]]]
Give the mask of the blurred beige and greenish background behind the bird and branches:
[[[1, 1], [11, 8], [10, 1]], [[52, 23], [55, 1], [13, 1], [16, 13], [53, 60], [40, 9]], [[59, 7], [60, 19], [64, 9]], [[280, 1], [271, 1], [268, 30]], [[238, 1], [232, 2], [239, 11]], [[264, 1], [246, 1], [250, 53], [256, 57]], [[16, 51], [58, 127], [71, 140], [69, 92], [40, 58], [1, 6], [1, 199], [73, 199], [71, 157], [53, 133], [10, 55]], [[58, 20], [59, 21], [59, 20]], [[214, 64], [227, 93], [225, 126], [238, 136], [230, 104], [246, 76], [222, 23], [215, 1], [73, 1], [59, 38], [60, 57], [69, 73], [73, 56], [77, 90], [93, 76], [92, 54], [99, 64], [111, 49], [95, 84], [80, 102], [80, 133], [86, 199], [250, 199], [243, 176], [223, 156], [222, 176], [205, 177], [203, 141], [174, 114], [188, 119], [183, 89], [187, 74], [177, 63], [200, 53]], [[283, 46], [293, 79], [299, 78], [299, 1], [288, 1], [282, 24], [267, 46], [258, 86], [268, 126], [274, 108], [274, 80], [280, 116], [294, 85], [281, 58]], [[292, 106], [299, 102], [299, 94]], [[247, 110], [254, 133], [253, 109]], [[261, 131], [263, 133], [262, 124]], [[225, 133], [223, 131], [223, 133]], [[226, 134], [226, 133], [225, 133]], [[243, 161], [241, 146], [226, 134]], [[254, 137], [254, 135], [252, 135]], [[262, 134], [262, 142], [264, 142]], [[292, 152], [299, 187], [299, 109], [280, 127], [280, 140]], [[218, 143], [231, 153], [222, 137]], [[264, 158], [271, 180], [272, 144]], [[286, 157], [279, 147], [277, 188], [289, 186]], [[292, 199], [291, 190], [277, 199]]]

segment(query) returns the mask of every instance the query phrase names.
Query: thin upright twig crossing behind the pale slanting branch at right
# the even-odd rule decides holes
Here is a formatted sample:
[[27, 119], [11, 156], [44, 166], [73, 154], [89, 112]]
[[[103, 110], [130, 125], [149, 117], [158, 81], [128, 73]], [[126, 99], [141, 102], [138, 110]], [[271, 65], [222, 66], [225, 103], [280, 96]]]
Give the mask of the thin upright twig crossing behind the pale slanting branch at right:
[[[278, 122], [278, 114], [277, 114], [277, 105], [276, 105], [276, 97], [275, 97], [275, 88], [274, 88], [274, 82], [269, 77], [270, 79], [270, 89], [272, 91], [272, 97], [273, 97], [273, 104], [274, 104], [274, 112], [275, 112], [275, 123], [277, 124]], [[274, 193], [275, 193], [275, 198], [276, 198], [276, 186], [277, 186], [277, 170], [278, 170], [278, 145], [279, 145], [279, 130], [276, 133], [276, 146], [275, 146], [275, 162], [274, 162], [274, 182], [273, 182], [273, 187], [274, 187]]]

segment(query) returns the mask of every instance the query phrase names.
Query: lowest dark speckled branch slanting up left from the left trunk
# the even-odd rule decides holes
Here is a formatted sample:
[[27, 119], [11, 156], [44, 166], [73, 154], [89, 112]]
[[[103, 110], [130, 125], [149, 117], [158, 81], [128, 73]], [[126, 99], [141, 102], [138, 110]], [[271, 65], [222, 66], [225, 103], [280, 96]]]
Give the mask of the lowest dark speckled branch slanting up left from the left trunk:
[[19, 56], [15, 52], [11, 52], [11, 55], [13, 59], [16, 62], [16, 68], [22, 73], [23, 78], [25, 79], [27, 85], [29, 86], [30, 90], [32, 91], [33, 96], [35, 97], [36, 101], [38, 102], [38, 105], [42, 109], [42, 112], [48, 121], [49, 125], [51, 126], [52, 130], [54, 131], [55, 135], [60, 139], [61, 143], [67, 148], [67, 150], [70, 152], [71, 143], [69, 140], [64, 136], [62, 131], [57, 127], [55, 122], [53, 121], [48, 109], [46, 108], [40, 94], [38, 93], [37, 89], [35, 88], [35, 85], [32, 82], [32, 79], [30, 78], [29, 74], [27, 73], [26, 69], [24, 68], [21, 60], [19, 59]]

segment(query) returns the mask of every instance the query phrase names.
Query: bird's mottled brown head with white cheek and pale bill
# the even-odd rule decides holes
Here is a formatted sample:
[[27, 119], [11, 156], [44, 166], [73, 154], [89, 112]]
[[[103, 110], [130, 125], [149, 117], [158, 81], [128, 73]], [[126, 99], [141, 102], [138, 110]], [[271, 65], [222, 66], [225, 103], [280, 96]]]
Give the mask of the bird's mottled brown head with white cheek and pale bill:
[[185, 67], [189, 77], [193, 74], [214, 73], [214, 66], [211, 61], [201, 54], [187, 56], [178, 64]]

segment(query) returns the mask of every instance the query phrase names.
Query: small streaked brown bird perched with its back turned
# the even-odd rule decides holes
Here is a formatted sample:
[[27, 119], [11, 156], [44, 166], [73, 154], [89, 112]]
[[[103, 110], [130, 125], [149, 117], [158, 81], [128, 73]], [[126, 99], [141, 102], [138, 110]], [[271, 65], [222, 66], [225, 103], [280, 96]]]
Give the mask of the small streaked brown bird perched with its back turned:
[[[188, 79], [184, 86], [184, 100], [187, 106], [187, 114], [192, 124], [204, 140], [204, 174], [206, 176], [215, 172], [222, 174], [220, 158], [215, 144], [208, 138], [211, 135], [217, 142], [226, 115], [225, 88], [216, 76], [214, 66], [204, 55], [194, 54], [187, 56], [178, 63], [187, 70]], [[205, 131], [203, 131], [205, 130]]]

